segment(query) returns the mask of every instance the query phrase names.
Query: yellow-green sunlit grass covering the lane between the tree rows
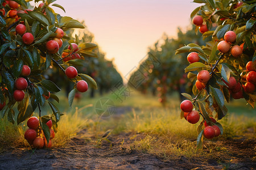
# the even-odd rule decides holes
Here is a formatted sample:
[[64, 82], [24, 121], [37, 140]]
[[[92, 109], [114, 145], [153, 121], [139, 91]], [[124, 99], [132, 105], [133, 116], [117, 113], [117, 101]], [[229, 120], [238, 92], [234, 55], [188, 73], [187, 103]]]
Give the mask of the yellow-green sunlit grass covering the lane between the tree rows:
[[[125, 108], [128, 112], [102, 118], [95, 112], [95, 104], [102, 96], [89, 99], [85, 95], [80, 101], [74, 100], [73, 107], [69, 108], [67, 98], [60, 94], [61, 103], [57, 105], [64, 116], [58, 123], [59, 131], [53, 139], [53, 146], [67, 145], [71, 138], [81, 137], [81, 130], [86, 130], [93, 137], [90, 140], [95, 140], [97, 146], [104, 140], [108, 141], [110, 135], [130, 133], [133, 141], [129, 145], [130, 150], [147, 152], [164, 159], [174, 159], [175, 156], [200, 159], [216, 156], [216, 152], [225, 152], [217, 146], [218, 140], [256, 137], [255, 109], [247, 107], [242, 100], [229, 103], [228, 116], [219, 121], [224, 128], [224, 135], [204, 142], [204, 149], [198, 151], [195, 148], [199, 123], [192, 125], [184, 118], [180, 119], [180, 101], [177, 100], [177, 95], [169, 97], [167, 107], [162, 107], [154, 96], [141, 95], [135, 91], [122, 102], [113, 94], [103, 97], [111, 99], [116, 108]], [[47, 105], [42, 111], [51, 114]], [[26, 122], [16, 126], [7, 122], [5, 117], [0, 120], [0, 142], [13, 146], [24, 143], [23, 133], [26, 129]], [[107, 135], [102, 137], [104, 133]]]

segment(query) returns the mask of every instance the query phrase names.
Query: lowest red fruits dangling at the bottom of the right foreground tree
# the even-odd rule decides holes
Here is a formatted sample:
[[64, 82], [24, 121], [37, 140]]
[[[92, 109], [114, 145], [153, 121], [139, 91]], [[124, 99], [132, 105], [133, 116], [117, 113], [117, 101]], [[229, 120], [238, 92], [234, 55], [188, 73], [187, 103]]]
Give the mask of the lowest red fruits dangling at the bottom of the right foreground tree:
[[[193, 104], [190, 100], [184, 100], [180, 104], [181, 111], [184, 112], [184, 118], [191, 124], [196, 124], [200, 120], [199, 112], [193, 110]], [[212, 139], [213, 137], [218, 137], [221, 133], [220, 128], [216, 124], [216, 120], [210, 117], [211, 122], [204, 121], [204, 137], [207, 139]], [[212, 125], [212, 126], [210, 126]]]

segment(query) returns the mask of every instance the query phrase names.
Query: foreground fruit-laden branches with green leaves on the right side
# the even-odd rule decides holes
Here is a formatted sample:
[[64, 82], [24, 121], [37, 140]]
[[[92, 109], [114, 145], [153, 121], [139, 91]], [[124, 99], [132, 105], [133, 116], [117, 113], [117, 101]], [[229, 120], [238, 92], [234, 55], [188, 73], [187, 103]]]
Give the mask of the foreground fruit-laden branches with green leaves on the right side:
[[206, 25], [203, 37], [212, 37], [212, 40], [204, 46], [188, 44], [177, 49], [176, 54], [197, 53], [188, 56], [190, 65], [185, 68], [188, 78], [195, 81], [193, 94], [196, 97], [183, 94], [188, 100], [180, 104], [180, 116], [187, 121], [191, 117], [192, 123], [199, 121], [199, 115], [203, 117], [197, 128], [197, 146], [201, 147], [203, 135], [211, 139], [223, 133], [216, 120], [228, 113], [225, 102], [229, 102], [230, 97], [244, 98], [254, 108], [256, 3], [236, 0], [194, 2], [204, 3], [191, 14], [196, 31]]

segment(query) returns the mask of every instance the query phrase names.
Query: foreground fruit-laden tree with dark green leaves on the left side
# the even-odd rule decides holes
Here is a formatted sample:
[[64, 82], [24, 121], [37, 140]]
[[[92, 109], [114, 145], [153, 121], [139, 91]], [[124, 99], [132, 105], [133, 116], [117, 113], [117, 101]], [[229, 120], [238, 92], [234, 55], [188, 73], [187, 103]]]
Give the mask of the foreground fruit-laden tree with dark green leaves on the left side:
[[[85, 92], [88, 85], [97, 88], [89, 75], [77, 72], [74, 66], [79, 61], [67, 61], [73, 56], [78, 60], [96, 57], [97, 45], [68, 36], [70, 29], [84, 28], [84, 25], [69, 16], [56, 14], [52, 7], [64, 8], [55, 1], [35, 0], [35, 6], [24, 0], [0, 3], [0, 113], [2, 118], [6, 115], [7, 120], [18, 125], [29, 118], [24, 137], [35, 148], [51, 147], [57, 122], [63, 115], [48, 101], [51, 97], [59, 102], [54, 93], [60, 91], [47, 79], [48, 70], [59, 69], [66, 75], [65, 79], [73, 82], [74, 88], [68, 96], [70, 106], [76, 91]], [[67, 53], [65, 57], [61, 57], [63, 52]], [[46, 103], [52, 114], [42, 116], [40, 107]], [[36, 109], [39, 118], [33, 117]]]

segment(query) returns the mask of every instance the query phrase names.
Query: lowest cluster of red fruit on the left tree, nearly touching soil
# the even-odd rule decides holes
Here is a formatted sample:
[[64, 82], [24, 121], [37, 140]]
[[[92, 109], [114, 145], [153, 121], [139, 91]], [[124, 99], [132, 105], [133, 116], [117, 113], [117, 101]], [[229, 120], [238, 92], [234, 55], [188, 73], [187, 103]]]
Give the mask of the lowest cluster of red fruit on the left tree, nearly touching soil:
[[52, 120], [49, 120], [46, 125], [49, 127], [50, 139], [47, 143], [46, 137], [43, 134], [43, 131], [40, 127], [40, 122], [37, 117], [30, 117], [27, 121], [27, 129], [24, 133], [24, 138], [27, 142], [34, 148], [43, 148], [52, 146], [52, 141], [55, 137], [54, 130], [52, 129]]

